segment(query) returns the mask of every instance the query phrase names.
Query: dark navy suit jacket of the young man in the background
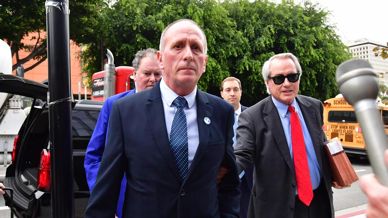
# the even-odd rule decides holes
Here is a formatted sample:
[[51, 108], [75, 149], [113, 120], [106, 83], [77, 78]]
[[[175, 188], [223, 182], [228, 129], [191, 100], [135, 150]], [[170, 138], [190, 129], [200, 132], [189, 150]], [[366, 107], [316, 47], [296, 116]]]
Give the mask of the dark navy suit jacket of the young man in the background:
[[[241, 105], [241, 112], [248, 107]], [[253, 187], [253, 164], [244, 170], [245, 174], [241, 178], [241, 198], [240, 198], [240, 217], [247, 218], [249, 200], [251, 199], [251, 192]]]

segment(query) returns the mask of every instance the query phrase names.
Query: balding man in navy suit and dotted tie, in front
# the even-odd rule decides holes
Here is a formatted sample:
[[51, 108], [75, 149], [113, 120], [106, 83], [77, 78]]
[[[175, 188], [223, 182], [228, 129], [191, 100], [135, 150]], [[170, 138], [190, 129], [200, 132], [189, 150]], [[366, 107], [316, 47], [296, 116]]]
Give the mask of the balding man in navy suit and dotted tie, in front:
[[[114, 215], [124, 172], [123, 217], [239, 216], [234, 109], [197, 88], [206, 50], [206, 36], [194, 21], [178, 20], [163, 31], [158, 51], [163, 78], [112, 106], [110, 149], [102, 156], [85, 218]], [[217, 185], [221, 164], [229, 173]]]

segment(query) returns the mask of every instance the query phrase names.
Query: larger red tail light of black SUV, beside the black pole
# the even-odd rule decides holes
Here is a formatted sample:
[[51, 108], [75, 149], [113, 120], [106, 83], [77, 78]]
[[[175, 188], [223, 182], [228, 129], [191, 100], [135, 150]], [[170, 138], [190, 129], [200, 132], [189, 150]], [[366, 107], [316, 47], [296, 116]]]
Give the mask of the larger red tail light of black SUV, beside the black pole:
[[47, 151], [47, 149], [43, 149], [40, 154], [36, 186], [42, 192], [49, 192], [51, 190], [50, 151]]

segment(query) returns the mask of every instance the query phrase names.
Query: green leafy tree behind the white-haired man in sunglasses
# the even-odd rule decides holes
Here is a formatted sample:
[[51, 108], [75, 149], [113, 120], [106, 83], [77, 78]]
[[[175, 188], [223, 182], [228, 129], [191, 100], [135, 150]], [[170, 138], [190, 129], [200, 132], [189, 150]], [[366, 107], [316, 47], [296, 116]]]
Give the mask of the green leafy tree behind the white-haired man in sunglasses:
[[350, 58], [335, 27], [328, 24], [329, 12], [318, 5], [290, 2], [225, 2], [237, 29], [248, 39], [242, 57], [237, 57], [235, 73], [243, 84], [250, 104], [267, 96], [262, 65], [274, 54], [291, 52], [300, 59], [303, 74], [300, 94], [326, 100], [338, 93], [335, 70]]

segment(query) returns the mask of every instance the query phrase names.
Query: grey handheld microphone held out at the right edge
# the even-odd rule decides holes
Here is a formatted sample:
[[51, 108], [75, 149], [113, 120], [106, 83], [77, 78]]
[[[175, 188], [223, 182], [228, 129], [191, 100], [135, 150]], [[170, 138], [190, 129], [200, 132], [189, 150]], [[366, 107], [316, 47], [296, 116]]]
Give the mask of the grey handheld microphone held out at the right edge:
[[354, 107], [376, 178], [388, 186], [388, 168], [384, 160], [388, 139], [376, 106], [379, 93], [377, 73], [368, 61], [351, 59], [338, 65], [336, 78], [340, 93]]

